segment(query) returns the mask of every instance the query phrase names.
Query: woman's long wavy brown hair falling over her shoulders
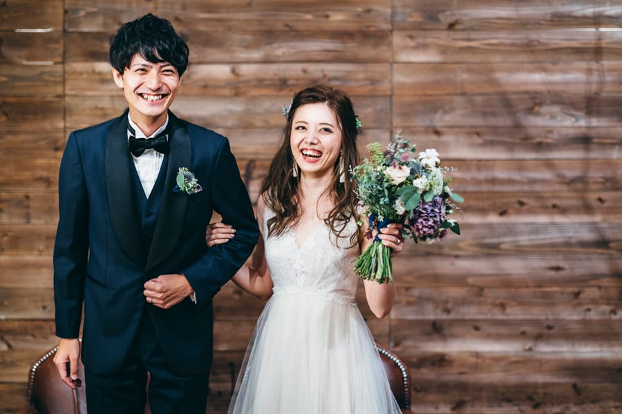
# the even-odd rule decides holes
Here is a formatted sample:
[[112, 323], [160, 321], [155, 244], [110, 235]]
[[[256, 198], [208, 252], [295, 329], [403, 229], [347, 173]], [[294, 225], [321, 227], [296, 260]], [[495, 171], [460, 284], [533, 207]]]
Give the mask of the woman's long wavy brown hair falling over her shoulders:
[[[357, 218], [357, 197], [355, 184], [350, 181], [350, 166], [359, 163], [357, 152], [357, 116], [352, 101], [346, 92], [326, 85], [316, 85], [296, 93], [290, 110], [288, 121], [283, 128], [282, 143], [270, 163], [267, 176], [261, 184], [261, 194], [265, 204], [274, 212], [274, 217], [268, 219], [268, 235], [281, 235], [287, 228], [295, 226], [300, 219], [299, 179], [294, 177], [294, 156], [290, 146], [292, 120], [298, 108], [309, 103], [326, 103], [337, 117], [338, 128], [341, 131], [341, 155], [333, 166], [334, 177], [330, 188], [325, 193], [332, 196], [334, 207], [324, 219], [326, 225], [337, 237], [349, 237], [352, 245], [358, 243], [358, 233], [343, 234], [352, 217]], [[339, 182], [341, 165], [345, 175], [344, 182]]]

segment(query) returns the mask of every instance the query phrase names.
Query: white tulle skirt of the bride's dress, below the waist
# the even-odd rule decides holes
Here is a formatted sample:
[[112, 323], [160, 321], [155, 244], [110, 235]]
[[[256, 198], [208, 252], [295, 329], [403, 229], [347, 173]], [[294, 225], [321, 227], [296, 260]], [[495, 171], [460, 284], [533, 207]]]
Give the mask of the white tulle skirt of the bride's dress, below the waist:
[[232, 414], [395, 414], [374, 339], [350, 301], [275, 293], [258, 319]]

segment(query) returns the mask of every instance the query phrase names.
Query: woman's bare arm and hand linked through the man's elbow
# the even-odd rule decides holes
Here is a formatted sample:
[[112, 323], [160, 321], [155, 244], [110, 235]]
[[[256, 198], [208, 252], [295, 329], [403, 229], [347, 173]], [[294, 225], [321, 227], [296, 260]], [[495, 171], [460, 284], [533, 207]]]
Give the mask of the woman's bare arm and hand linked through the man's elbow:
[[[264, 204], [260, 197], [257, 202], [257, 221], [260, 231], [263, 230], [263, 208]], [[212, 223], [207, 226], [205, 242], [209, 247], [218, 246], [218, 244], [229, 242], [229, 239], [234, 237], [235, 232], [236, 230], [229, 224]], [[239, 288], [259, 299], [267, 299], [272, 295], [272, 277], [270, 277], [270, 268], [265, 261], [263, 236], [259, 237], [255, 246], [251, 264], [243, 265], [232, 277], [232, 281]]]

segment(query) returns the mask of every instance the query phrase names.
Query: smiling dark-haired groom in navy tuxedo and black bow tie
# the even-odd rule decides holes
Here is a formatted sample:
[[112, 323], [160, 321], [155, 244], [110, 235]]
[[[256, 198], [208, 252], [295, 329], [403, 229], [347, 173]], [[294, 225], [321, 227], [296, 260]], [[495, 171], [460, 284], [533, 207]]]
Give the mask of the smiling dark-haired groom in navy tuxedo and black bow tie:
[[[110, 61], [129, 110], [72, 132], [61, 162], [54, 361], [75, 388], [82, 351], [89, 414], [144, 413], [147, 373], [154, 414], [205, 414], [211, 299], [258, 239], [227, 139], [169, 111], [188, 54], [165, 19], [125, 23]], [[237, 232], [208, 249], [212, 210]]]

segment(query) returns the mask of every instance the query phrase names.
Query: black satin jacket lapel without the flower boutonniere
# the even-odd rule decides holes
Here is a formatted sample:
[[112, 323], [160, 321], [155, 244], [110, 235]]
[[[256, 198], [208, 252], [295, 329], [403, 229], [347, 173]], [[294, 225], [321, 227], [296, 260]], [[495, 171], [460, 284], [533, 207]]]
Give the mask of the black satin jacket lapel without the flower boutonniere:
[[117, 241], [137, 263], [144, 263], [140, 228], [134, 205], [131, 157], [127, 144], [127, 112], [106, 137], [106, 191], [108, 208]]

